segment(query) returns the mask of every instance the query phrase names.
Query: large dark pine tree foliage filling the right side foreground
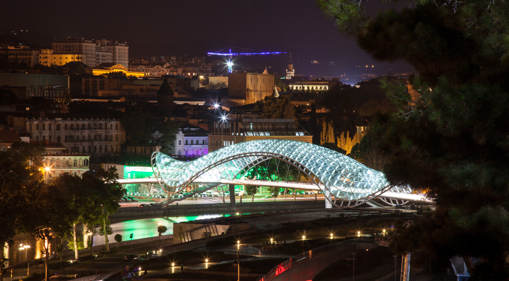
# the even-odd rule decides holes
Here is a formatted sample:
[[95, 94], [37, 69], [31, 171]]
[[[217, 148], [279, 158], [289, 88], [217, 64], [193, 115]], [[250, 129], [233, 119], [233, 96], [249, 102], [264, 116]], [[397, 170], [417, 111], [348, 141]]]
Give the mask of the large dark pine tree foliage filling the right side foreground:
[[390, 183], [427, 189], [437, 204], [391, 247], [477, 257], [471, 280], [507, 279], [509, 3], [419, 0], [371, 19], [366, 3], [318, 1], [341, 30], [354, 27], [374, 59], [403, 60], [419, 73], [409, 85], [382, 82], [398, 111], [369, 134], [389, 157]]

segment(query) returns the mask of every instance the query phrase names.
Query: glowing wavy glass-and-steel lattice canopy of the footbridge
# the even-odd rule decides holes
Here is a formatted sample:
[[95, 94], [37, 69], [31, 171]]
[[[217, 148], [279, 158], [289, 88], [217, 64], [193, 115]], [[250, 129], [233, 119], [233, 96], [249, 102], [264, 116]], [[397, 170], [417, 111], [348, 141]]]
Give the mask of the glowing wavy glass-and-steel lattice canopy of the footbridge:
[[[321, 146], [285, 139], [239, 143], [186, 162], [154, 152], [151, 163], [161, 186], [175, 193], [193, 181], [216, 183], [221, 179], [238, 179], [239, 175], [268, 158], [297, 167], [324, 194], [330, 192], [342, 202], [364, 201], [392, 188], [382, 172], [348, 156]], [[327, 199], [330, 201], [330, 197]]]

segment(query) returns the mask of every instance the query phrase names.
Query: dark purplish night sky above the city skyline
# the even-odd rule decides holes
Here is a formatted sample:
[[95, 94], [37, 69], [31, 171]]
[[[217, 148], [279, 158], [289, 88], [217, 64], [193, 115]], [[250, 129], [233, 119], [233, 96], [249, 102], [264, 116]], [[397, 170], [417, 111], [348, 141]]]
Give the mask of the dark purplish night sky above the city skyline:
[[[370, 5], [375, 5], [369, 7], [371, 13], [382, 7]], [[403, 63], [373, 61], [354, 39], [336, 31], [333, 21], [324, 18], [313, 0], [18, 0], [3, 3], [2, 10], [2, 32], [28, 30], [18, 35], [38, 45], [50, 46], [53, 38], [68, 36], [108, 39], [127, 42], [129, 57], [135, 58], [204, 57], [207, 52], [230, 47], [286, 51], [292, 53], [296, 73], [305, 76], [412, 71]], [[288, 53], [244, 57], [236, 63], [258, 71], [267, 66], [281, 73], [287, 67]], [[215, 59], [222, 60], [207, 57], [208, 62]]]

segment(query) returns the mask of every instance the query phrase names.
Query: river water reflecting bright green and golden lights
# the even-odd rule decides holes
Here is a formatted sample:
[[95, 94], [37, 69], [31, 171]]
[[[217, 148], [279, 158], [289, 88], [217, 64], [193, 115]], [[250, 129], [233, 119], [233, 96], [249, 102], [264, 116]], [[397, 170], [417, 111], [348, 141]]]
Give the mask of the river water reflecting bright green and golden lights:
[[[206, 218], [215, 218], [221, 217], [230, 214], [207, 214], [207, 215], [186, 215], [186, 216], [171, 216], [171, 217], [149, 217], [149, 218], [137, 218], [137, 219], [117, 219], [111, 220], [111, 228], [113, 229], [113, 234], [108, 235], [109, 242], [115, 242], [115, 235], [122, 235], [122, 240], [129, 240], [129, 235], [133, 234], [133, 239], [141, 239], [147, 237], [153, 237], [159, 235], [157, 232], [157, 227], [159, 220], [161, 220], [162, 225], [165, 226], [168, 230], [163, 233], [164, 235], [173, 234], [173, 223], [174, 222], [182, 222], [182, 221], [190, 221], [196, 219], [206, 219]], [[96, 232], [97, 232], [96, 228]], [[85, 229], [82, 224], [78, 224], [77, 226], [77, 236], [85, 241], [85, 245], [87, 246], [88, 237], [85, 233]], [[53, 238], [50, 243], [50, 252], [54, 249], [54, 244], [59, 243], [60, 238]], [[67, 244], [64, 242], [64, 244]], [[104, 237], [100, 235], [94, 236], [94, 245], [104, 244]], [[21, 246], [29, 245], [30, 248], [20, 249]], [[18, 264], [21, 262], [25, 262], [27, 259], [34, 260], [39, 259], [43, 256], [44, 245], [43, 241], [37, 240], [31, 236], [25, 235], [17, 235], [14, 237], [14, 244], [10, 247], [5, 247], [4, 251], [6, 254], [6, 258], [9, 259], [8, 266]]]

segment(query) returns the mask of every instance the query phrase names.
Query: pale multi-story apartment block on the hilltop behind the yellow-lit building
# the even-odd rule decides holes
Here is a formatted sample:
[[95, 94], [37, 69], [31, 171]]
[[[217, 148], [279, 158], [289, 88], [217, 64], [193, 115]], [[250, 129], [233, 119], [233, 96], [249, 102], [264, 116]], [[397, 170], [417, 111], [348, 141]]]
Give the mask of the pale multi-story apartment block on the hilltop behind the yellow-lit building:
[[129, 64], [129, 47], [126, 43], [113, 42], [106, 39], [84, 40], [83, 38], [67, 38], [52, 43], [54, 54], [81, 54], [82, 62], [90, 67], [102, 63]]

